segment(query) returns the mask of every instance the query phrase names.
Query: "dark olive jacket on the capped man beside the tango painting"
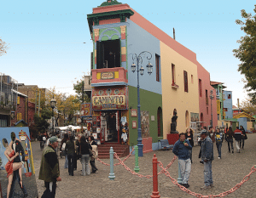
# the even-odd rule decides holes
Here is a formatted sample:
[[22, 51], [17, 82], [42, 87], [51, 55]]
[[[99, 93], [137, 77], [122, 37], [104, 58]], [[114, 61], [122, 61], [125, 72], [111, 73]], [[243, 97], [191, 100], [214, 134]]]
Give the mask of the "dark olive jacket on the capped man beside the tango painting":
[[59, 160], [51, 145], [44, 148], [38, 178], [45, 182], [56, 182], [60, 176]]

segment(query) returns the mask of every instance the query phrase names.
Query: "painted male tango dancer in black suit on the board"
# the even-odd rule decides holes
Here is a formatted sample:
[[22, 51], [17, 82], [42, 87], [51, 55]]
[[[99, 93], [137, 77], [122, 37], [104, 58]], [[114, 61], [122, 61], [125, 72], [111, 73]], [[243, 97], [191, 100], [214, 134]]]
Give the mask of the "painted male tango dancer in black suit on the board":
[[[13, 141], [12, 144], [12, 149], [15, 150], [15, 153], [18, 152], [19, 154], [21, 153], [22, 156], [22, 161], [25, 161], [25, 153], [23, 150], [22, 145], [20, 144], [20, 141], [18, 139], [16, 139], [16, 135], [14, 132], [11, 133], [11, 139]], [[20, 162], [20, 155], [15, 157], [14, 162]], [[11, 189], [9, 192], [9, 197], [13, 198], [14, 197], [14, 189], [15, 189], [15, 181], [18, 180], [18, 184], [20, 185], [20, 189], [23, 192], [24, 197], [27, 197], [27, 192], [26, 192], [26, 188], [24, 186], [24, 184], [22, 183], [22, 186], [20, 184], [20, 174], [19, 174], [19, 169], [14, 171], [14, 177], [13, 177], [13, 182], [11, 185]]]

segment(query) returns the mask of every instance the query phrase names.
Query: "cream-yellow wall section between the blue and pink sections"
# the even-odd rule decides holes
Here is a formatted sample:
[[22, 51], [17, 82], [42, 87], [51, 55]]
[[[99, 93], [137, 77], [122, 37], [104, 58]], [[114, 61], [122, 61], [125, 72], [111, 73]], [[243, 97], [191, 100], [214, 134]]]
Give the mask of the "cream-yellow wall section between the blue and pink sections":
[[[184, 133], [186, 129], [186, 110], [189, 111], [189, 122], [190, 112], [199, 113], [198, 76], [197, 65], [177, 54], [163, 42], [160, 42], [160, 64], [163, 99], [163, 138], [166, 139], [166, 134], [171, 131], [174, 109], [177, 110], [177, 131], [179, 133]], [[175, 65], [176, 84], [179, 86], [177, 89], [172, 88], [172, 64]], [[184, 92], [183, 71], [188, 72], [188, 93]], [[193, 83], [191, 83], [191, 75], [193, 75]]]

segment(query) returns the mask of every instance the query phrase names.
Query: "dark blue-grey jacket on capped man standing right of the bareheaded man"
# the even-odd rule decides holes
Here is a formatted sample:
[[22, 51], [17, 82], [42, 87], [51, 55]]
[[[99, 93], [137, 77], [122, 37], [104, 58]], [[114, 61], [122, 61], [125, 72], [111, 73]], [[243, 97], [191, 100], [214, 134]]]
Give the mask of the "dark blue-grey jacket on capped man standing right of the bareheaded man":
[[202, 161], [212, 161], [213, 158], [213, 143], [212, 139], [207, 136], [206, 139], [201, 140], [201, 159]]

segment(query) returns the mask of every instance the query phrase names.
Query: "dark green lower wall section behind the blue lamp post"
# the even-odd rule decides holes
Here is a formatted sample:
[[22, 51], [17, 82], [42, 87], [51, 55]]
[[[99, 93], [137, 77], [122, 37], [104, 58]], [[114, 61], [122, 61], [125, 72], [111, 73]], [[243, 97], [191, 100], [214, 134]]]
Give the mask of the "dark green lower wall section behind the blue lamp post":
[[[131, 117], [131, 107], [137, 110], [137, 88], [128, 86], [129, 90], [129, 139], [130, 145], [137, 144], [137, 128], [132, 129], [132, 121], [137, 121], [137, 117]], [[157, 142], [162, 137], [158, 137], [157, 127], [157, 110], [159, 107], [162, 108], [162, 95], [158, 93], [149, 92], [140, 89], [140, 101], [141, 110], [148, 110], [149, 112], [149, 136], [152, 137], [152, 141]], [[151, 121], [151, 116], [154, 116], [154, 121]], [[161, 126], [161, 134], [162, 132]]]

